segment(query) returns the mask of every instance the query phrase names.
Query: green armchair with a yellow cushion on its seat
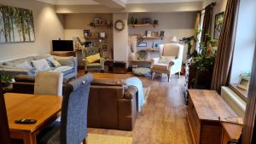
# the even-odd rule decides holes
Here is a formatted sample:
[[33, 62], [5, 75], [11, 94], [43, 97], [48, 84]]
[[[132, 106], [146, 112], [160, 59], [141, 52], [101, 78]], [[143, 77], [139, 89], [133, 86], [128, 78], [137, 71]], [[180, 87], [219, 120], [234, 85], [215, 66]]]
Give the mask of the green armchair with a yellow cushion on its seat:
[[[96, 55], [97, 53], [100, 53], [101, 59], [90, 63], [86, 57], [90, 55]], [[88, 72], [89, 69], [98, 69], [101, 70], [101, 72], [104, 72], [104, 62], [105, 59], [102, 57], [102, 50], [101, 48], [98, 47], [93, 47], [93, 48], [82, 48], [82, 55], [83, 55], [83, 61], [84, 61], [84, 71]]]

